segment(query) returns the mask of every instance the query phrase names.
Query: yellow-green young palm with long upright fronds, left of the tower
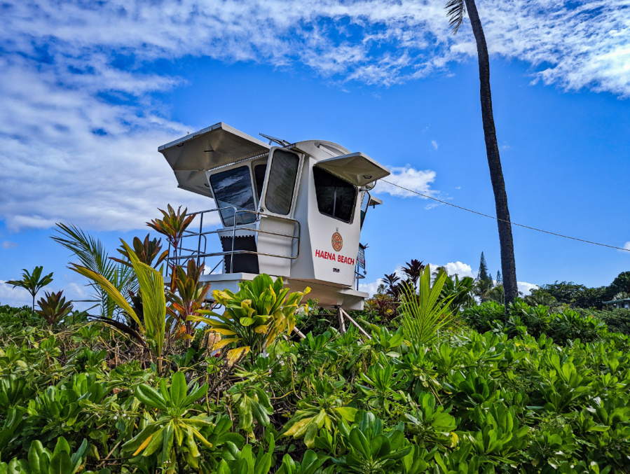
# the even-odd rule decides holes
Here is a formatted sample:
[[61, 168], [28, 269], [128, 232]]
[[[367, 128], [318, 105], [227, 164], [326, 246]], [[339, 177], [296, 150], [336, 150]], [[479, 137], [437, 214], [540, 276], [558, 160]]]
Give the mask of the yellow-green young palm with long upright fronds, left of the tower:
[[[146, 263], [139, 261], [134, 251], [128, 244], [121, 239], [125, 250], [128, 253], [130, 261], [132, 263], [132, 271], [135, 273], [138, 285], [140, 288], [140, 296], [142, 297], [142, 319], [137, 314], [136, 310], [130, 305], [130, 302], [125, 299], [118, 288], [114, 286], [106, 277], [102, 274], [91, 270], [90, 268], [83, 267], [81, 265], [71, 264], [72, 270], [82, 274], [84, 277], [95, 281], [102, 291], [107, 293], [109, 297], [120, 307], [125, 313], [127, 313], [133, 321], [138, 325], [139, 337], [141, 342], [151, 347], [153, 353], [157, 359], [158, 373], [162, 372], [162, 352], [164, 349], [165, 340], [165, 327], [166, 327], [166, 298], [164, 294], [164, 279], [162, 277], [162, 271], [156, 270], [153, 267], [149, 267]], [[111, 321], [107, 318], [102, 318], [100, 321], [110, 324], [115, 328], [125, 330], [122, 326], [123, 323], [118, 321]], [[135, 330], [127, 328], [126, 333], [132, 335]]]

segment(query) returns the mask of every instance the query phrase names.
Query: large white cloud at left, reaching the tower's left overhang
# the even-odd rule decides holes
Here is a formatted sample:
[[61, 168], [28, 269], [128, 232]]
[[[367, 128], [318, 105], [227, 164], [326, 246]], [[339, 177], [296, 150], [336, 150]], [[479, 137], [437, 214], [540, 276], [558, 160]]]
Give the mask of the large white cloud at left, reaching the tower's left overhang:
[[168, 202], [208, 207], [207, 199], [177, 189], [157, 153], [159, 144], [185, 134], [182, 125], [138, 116], [85, 90], [57, 88], [55, 75], [0, 63], [10, 78], [0, 81], [0, 217], [9, 230], [59, 221], [129, 230], [158, 216], [156, 207]]

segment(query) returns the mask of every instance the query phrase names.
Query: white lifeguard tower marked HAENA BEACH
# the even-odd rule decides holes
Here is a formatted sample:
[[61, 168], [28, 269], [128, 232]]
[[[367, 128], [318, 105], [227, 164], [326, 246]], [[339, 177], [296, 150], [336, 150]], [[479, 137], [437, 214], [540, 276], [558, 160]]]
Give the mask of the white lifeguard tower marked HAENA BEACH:
[[238, 291], [267, 273], [292, 291], [310, 286], [308, 297], [322, 307], [363, 309], [359, 237], [367, 209], [382, 204], [369, 190], [389, 170], [330, 141], [263, 137], [268, 144], [217, 123], [158, 148], [179, 188], [216, 204], [194, 213], [198, 230], [187, 231], [169, 259], [205, 262], [202, 279], [212, 289]]

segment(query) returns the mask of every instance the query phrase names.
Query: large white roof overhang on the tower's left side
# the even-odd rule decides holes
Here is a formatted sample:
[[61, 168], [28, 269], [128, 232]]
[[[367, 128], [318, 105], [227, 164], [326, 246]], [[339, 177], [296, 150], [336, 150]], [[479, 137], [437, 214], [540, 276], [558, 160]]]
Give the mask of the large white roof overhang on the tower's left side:
[[205, 172], [269, 152], [270, 146], [224, 123], [188, 134], [158, 148], [179, 188], [212, 197]]

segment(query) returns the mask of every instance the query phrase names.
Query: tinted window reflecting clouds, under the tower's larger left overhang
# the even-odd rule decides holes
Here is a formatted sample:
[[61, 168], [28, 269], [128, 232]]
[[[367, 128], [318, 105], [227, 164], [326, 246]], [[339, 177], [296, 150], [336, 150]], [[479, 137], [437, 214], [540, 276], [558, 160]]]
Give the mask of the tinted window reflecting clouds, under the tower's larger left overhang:
[[[235, 206], [236, 209], [254, 211], [254, 193], [252, 180], [249, 177], [249, 167], [242, 166], [213, 174], [210, 176], [210, 184], [218, 207]], [[224, 225], [234, 225], [233, 209], [224, 209], [220, 212]], [[236, 218], [236, 224], [249, 224], [255, 220], [254, 214], [240, 213]]]

